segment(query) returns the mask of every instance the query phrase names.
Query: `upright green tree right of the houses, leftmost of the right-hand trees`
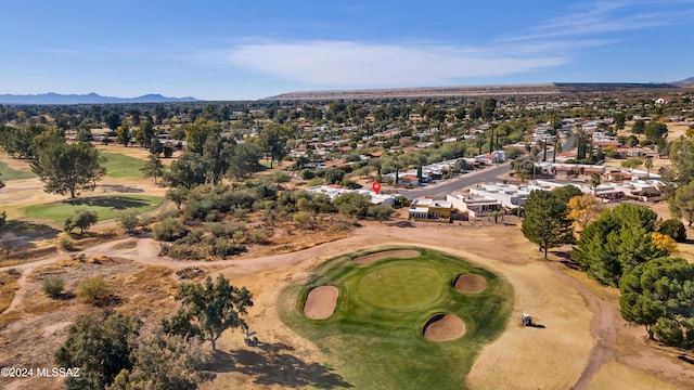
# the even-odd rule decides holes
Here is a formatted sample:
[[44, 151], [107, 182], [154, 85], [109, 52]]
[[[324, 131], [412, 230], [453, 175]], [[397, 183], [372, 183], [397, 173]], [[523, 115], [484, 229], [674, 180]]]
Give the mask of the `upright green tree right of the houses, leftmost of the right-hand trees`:
[[567, 218], [567, 204], [558, 199], [551, 192], [532, 191], [523, 203], [525, 218], [520, 231], [531, 243], [537, 244], [544, 251], [562, 244], [574, 240], [571, 221]]

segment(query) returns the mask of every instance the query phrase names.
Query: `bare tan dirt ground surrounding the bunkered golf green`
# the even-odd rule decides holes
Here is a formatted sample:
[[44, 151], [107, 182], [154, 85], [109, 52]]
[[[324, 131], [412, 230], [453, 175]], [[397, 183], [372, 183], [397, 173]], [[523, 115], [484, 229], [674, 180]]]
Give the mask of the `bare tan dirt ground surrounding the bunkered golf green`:
[[[69, 281], [67, 290], [74, 291], [78, 280], [101, 274], [119, 298], [116, 310], [156, 323], [175, 311], [175, 271], [197, 266], [213, 277], [221, 272], [232, 284], [246, 286], [253, 292], [255, 306], [249, 309], [247, 322], [260, 339], [258, 347], [247, 347], [240, 333], [224, 333], [217, 342], [219, 351], [214, 354], [217, 377], [204, 384], [203, 389], [335, 387], [331, 381], [333, 362], [326, 361], [310, 340], [282, 324], [278, 297], [287, 284], [306, 281], [326, 259], [397, 245], [423, 246], [464, 257], [513, 285], [511, 322], [497, 340], [480, 351], [467, 377], [467, 386], [473, 389], [603, 388], [601, 385], [617, 384], [615, 376], [624, 378], [616, 389], [638, 388], [641, 384], [651, 388], [686, 388], [694, 382], [690, 363], [672, 350], [646, 342], [643, 329], [620, 320], [618, 291], [599, 286], [558, 261], [542, 260], [537, 247], [512, 224], [412, 227], [364, 222], [348, 237], [303, 250], [249, 253], [213, 262], [157, 257], [158, 243], [151, 238], [114, 238], [83, 250], [87, 259], [105, 256], [99, 263], [60, 262], [68, 257], [60, 253], [16, 265], [24, 280], [17, 282], [20, 289], [12, 310], [0, 314], [0, 363], [50, 366], [69, 323], [77, 314], [93, 310], [72, 298], [46, 297], [40, 291], [46, 275], [64, 275]], [[8, 268], [0, 269], [7, 271]], [[519, 320], [525, 312], [542, 326], [523, 327]], [[630, 376], [631, 373], [638, 375]], [[55, 382], [0, 382], [2, 388], [51, 388], [49, 385]]]

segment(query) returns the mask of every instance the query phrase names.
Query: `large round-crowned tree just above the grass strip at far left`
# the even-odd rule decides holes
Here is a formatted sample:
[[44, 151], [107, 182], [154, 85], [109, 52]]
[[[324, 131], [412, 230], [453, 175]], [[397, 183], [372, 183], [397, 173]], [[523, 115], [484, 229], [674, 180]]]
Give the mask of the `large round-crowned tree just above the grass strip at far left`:
[[104, 161], [91, 144], [54, 144], [39, 153], [31, 171], [43, 182], [46, 192], [75, 198], [78, 190], [97, 187], [97, 181], [106, 174]]

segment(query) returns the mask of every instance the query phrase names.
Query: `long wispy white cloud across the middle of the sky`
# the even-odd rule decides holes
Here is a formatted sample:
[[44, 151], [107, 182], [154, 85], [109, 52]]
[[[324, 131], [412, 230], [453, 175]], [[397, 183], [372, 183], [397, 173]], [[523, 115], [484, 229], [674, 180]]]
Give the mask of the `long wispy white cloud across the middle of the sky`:
[[514, 55], [513, 50], [326, 40], [243, 43], [228, 52], [226, 60], [241, 68], [306, 83], [381, 87], [504, 76], [566, 62], [558, 55]]

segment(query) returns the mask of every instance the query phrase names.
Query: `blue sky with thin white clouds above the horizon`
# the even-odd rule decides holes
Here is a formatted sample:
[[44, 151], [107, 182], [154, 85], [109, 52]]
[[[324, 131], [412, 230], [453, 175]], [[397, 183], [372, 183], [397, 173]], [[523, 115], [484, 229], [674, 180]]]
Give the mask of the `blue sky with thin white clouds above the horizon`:
[[255, 100], [290, 91], [694, 76], [694, 0], [25, 0], [0, 94]]

